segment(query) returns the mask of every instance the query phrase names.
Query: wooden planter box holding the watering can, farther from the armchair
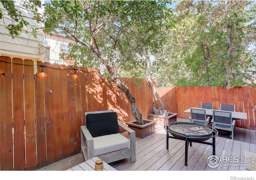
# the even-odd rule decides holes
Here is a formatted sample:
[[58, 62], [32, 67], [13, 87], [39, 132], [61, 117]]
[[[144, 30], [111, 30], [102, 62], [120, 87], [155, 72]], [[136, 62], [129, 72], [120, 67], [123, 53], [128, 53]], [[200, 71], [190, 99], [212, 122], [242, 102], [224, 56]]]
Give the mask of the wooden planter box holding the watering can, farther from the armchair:
[[164, 126], [165, 124], [167, 124], [169, 122], [176, 122], [177, 115], [178, 115], [178, 113], [172, 113], [172, 112], [169, 112], [167, 117], [158, 116], [155, 114], [148, 114], [148, 119], [154, 120], [157, 125]]

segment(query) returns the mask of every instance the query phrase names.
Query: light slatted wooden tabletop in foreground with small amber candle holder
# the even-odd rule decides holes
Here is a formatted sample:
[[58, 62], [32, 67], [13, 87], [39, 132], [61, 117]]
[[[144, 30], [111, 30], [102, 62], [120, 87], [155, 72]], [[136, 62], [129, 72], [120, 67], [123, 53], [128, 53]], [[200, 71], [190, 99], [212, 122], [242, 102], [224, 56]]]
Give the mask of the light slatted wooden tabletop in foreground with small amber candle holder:
[[[95, 161], [98, 160], [99, 158], [96, 156], [90, 160], [87, 160], [86, 162], [82, 162], [73, 168], [68, 169], [67, 171], [95, 171]], [[115, 168], [110, 166], [108, 163], [103, 161], [103, 167], [104, 171], [116, 171]]]

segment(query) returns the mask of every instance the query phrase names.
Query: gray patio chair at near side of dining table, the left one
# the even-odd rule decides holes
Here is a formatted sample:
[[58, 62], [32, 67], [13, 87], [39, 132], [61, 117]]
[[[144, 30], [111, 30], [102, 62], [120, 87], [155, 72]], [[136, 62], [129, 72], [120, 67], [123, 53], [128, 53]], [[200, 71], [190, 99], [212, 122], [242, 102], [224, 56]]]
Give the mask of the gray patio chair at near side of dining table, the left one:
[[206, 117], [206, 110], [204, 109], [190, 109], [190, 122], [199, 123], [199, 124], [209, 124], [210, 116]]

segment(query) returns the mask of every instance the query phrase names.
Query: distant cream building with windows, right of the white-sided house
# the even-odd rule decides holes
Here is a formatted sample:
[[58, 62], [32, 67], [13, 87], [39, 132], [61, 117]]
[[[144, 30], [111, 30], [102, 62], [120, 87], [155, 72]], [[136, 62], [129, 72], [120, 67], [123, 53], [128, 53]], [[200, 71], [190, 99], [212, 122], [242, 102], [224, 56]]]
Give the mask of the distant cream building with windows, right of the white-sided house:
[[47, 35], [44, 41], [46, 46], [50, 46], [50, 62], [57, 64], [65, 64], [65, 65], [74, 65], [74, 59], [64, 58], [64, 60], [60, 59], [60, 53], [69, 53], [68, 44], [70, 42], [74, 42], [70, 38], [59, 34], [53, 34], [52, 36]]

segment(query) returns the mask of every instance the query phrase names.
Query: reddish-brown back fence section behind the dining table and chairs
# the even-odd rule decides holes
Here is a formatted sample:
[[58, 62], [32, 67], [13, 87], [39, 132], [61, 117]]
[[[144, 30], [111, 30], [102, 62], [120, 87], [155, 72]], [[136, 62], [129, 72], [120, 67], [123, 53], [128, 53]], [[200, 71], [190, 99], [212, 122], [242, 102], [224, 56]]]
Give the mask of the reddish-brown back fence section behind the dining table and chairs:
[[[220, 104], [235, 104], [235, 110], [246, 112], [247, 120], [236, 120], [237, 127], [256, 130], [256, 86], [227, 87], [188, 86], [158, 88], [158, 94], [165, 103], [166, 110], [178, 113], [179, 118], [188, 119], [190, 114], [184, 110], [200, 108], [201, 102], [213, 103], [219, 110]], [[159, 103], [157, 103], [159, 105]]]

